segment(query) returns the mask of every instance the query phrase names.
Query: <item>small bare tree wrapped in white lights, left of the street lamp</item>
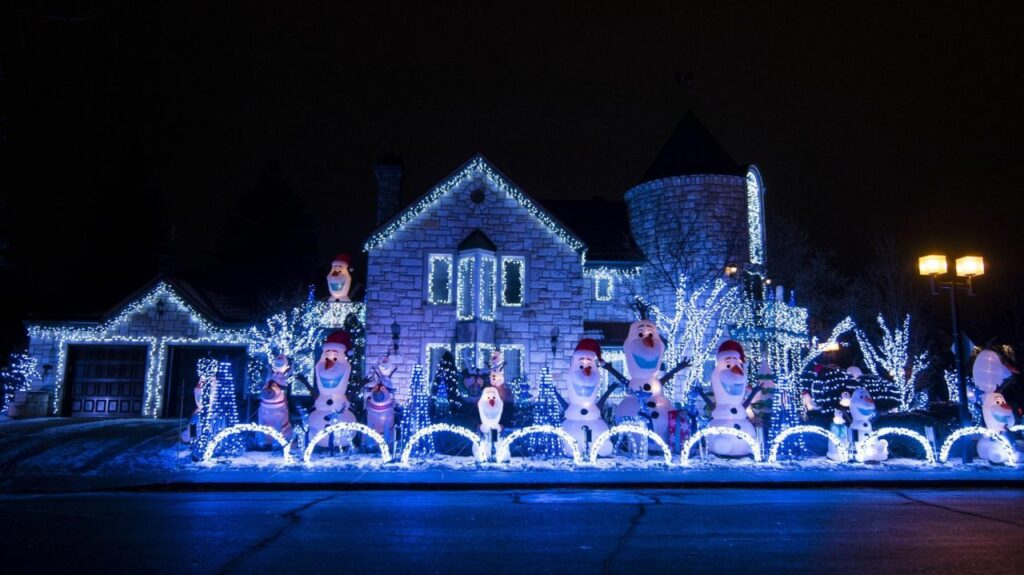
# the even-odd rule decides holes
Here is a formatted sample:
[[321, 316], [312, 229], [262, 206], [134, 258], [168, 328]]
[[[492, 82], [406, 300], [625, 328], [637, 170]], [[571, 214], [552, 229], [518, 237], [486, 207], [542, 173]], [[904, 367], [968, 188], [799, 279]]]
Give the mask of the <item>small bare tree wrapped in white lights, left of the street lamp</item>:
[[[886, 324], [879, 314], [879, 327], [882, 328], [881, 345], [876, 347], [860, 329], [854, 330], [860, 350], [864, 354], [864, 362], [873, 372], [886, 378], [894, 388], [894, 395], [899, 399], [898, 411], [909, 411], [914, 406], [914, 396], [918, 393], [914, 383], [918, 375], [928, 366], [928, 352], [910, 356], [910, 315], [903, 319], [902, 327]], [[909, 368], [909, 373], [907, 372]]]

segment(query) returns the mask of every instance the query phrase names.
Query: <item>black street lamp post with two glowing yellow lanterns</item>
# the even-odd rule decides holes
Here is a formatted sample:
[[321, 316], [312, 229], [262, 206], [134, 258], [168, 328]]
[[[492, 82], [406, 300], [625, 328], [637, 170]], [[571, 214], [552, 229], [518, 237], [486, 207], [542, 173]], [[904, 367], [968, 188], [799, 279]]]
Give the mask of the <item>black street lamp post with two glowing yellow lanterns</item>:
[[[964, 377], [964, 350], [959, 337], [959, 316], [956, 311], [956, 290], [964, 290], [968, 296], [974, 296], [974, 278], [985, 273], [985, 260], [980, 256], [965, 256], [956, 259], [956, 275], [948, 281], [940, 281], [949, 268], [944, 255], [930, 255], [918, 258], [918, 269], [921, 275], [927, 275], [932, 288], [932, 295], [938, 296], [939, 290], [949, 292], [949, 315], [952, 318], [953, 365], [956, 367], [956, 389], [959, 390], [959, 418], [962, 427], [971, 425], [971, 408], [968, 406], [967, 379]], [[956, 277], [964, 277], [957, 281]], [[964, 444], [964, 462], [972, 459], [969, 443]]]

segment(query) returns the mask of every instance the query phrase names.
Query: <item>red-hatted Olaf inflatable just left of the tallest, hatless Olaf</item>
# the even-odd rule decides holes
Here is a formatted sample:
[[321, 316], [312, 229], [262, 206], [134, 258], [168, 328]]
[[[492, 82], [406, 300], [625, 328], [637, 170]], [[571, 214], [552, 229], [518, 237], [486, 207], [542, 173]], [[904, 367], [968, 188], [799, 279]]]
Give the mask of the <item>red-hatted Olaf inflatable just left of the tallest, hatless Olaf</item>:
[[[581, 449], [587, 448], [587, 432], [584, 428], [590, 429], [591, 441], [608, 431], [607, 424], [601, 418], [601, 408], [597, 405], [601, 391], [601, 373], [597, 368], [600, 360], [601, 345], [596, 340], [580, 340], [565, 377], [568, 406], [565, 407], [562, 429], [575, 438]], [[598, 454], [603, 457], [611, 455], [611, 442], [605, 441]]]

